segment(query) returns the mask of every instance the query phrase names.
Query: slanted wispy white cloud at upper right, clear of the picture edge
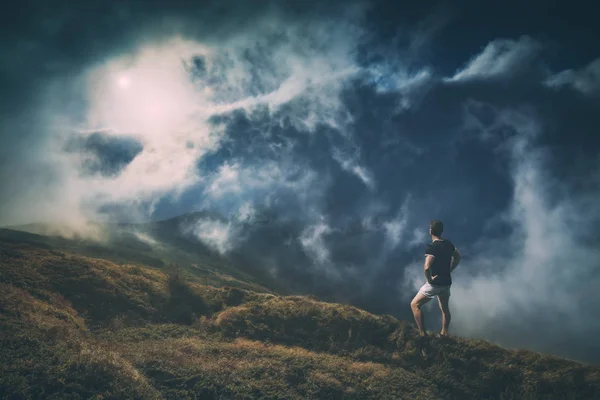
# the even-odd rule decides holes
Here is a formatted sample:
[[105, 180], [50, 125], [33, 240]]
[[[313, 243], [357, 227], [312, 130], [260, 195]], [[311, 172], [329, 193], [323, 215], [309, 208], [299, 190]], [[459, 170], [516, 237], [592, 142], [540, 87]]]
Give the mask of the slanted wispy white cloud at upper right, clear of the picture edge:
[[473, 79], [493, 79], [511, 76], [527, 67], [541, 49], [540, 43], [529, 36], [518, 40], [496, 39], [475, 56], [449, 82]]

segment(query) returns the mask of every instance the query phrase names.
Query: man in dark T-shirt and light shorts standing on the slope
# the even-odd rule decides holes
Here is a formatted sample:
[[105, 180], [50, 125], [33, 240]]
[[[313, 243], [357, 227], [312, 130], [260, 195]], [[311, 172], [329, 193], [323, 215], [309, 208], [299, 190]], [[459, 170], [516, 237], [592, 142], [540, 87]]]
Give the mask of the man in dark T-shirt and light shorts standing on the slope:
[[460, 253], [454, 245], [447, 239], [442, 239], [444, 224], [442, 221], [431, 221], [429, 225], [429, 234], [432, 242], [427, 245], [425, 250], [425, 278], [427, 282], [410, 303], [419, 335], [425, 336], [425, 327], [423, 321], [423, 312], [421, 306], [435, 296], [438, 298], [440, 309], [442, 310], [442, 331], [440, 335], [448, 335], [448, 326], [450, 325], [450, 286], [452, 285], [451, 272], [460, 262]]

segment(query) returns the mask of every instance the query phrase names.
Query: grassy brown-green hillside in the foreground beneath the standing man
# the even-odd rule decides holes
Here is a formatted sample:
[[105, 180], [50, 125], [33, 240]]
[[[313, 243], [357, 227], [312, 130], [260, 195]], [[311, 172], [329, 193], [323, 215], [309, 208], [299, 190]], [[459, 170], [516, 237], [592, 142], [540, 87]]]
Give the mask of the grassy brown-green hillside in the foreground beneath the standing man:
[[598, 366], [31, 241], [0, 239], [0, 348], [2, 399], [600, 398]]

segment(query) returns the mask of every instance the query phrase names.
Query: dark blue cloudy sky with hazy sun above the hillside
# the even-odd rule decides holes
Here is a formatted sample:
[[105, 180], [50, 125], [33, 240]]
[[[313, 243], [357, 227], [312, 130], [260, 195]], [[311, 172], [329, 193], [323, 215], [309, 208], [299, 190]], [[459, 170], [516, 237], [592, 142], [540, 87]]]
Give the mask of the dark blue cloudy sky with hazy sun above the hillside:
[[7, 5], [0, 225], [204, 210], [232, 262], [410, 320], [441, 219], [454, 333], [600, 362], [591, 3], [323, 3]]

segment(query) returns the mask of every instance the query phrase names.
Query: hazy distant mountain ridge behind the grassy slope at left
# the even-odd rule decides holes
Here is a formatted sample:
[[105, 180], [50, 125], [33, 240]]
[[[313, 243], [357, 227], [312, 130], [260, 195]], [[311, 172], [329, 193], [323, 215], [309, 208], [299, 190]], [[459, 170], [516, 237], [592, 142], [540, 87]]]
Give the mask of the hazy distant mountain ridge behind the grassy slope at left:
[[[0, 240], [22, 241], [117, 263], [139, 263], [155, 268], [174, 263], [203, 277], [215, 276], [214, 272], [218, 271], [255, 283], [254, 290], [273, 290], [272, 282], [248, 275], [217, 251], [182, 232], [184, 224], [217, 217], [214, 213], [196, 212], [153, 222], [92, 224], [92, 235], [74, 233], [67, 226], [27, 224], [0, 228]], [[217, 280], [213, 284], [217, 284]]]

